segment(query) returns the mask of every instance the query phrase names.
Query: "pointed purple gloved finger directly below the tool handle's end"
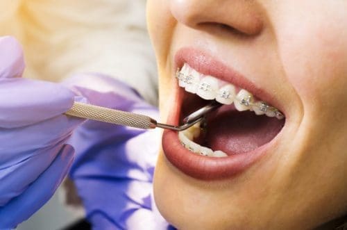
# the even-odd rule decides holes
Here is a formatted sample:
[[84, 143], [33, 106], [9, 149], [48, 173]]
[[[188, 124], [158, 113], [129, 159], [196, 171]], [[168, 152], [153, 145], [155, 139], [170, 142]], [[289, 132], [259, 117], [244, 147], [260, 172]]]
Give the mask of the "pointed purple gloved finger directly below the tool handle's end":
[[83, 119], [60, 115], [24, 128], [0, 128], [0, 169], [35, 155], [58, 152], [57, 148], [65, 144], [83, 122]]

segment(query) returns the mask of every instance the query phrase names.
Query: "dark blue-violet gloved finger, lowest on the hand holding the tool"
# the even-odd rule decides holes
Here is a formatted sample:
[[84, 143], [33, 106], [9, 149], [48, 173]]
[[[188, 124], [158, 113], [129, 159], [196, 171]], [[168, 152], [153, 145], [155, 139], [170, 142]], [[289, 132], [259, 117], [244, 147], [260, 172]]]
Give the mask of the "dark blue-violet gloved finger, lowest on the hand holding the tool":
[[0, 208], [0, 229], [16, 227], [41, 208], [62, 182], [73, 159], [74, 148], [65, 145], [53, 163], [22, 195]]

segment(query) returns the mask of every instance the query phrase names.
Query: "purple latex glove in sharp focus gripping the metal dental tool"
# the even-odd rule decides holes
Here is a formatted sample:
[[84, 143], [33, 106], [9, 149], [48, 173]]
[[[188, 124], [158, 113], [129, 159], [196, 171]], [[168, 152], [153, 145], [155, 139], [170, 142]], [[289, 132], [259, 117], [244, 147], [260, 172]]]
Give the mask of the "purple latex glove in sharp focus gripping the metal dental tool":
[[0, 229], [16, 227], [53, 195], [74, 149], [66, 145], [83, 120], [62, 115], [75, 95], [55, 83], [22, 79], [19, 44], [0, 38]]

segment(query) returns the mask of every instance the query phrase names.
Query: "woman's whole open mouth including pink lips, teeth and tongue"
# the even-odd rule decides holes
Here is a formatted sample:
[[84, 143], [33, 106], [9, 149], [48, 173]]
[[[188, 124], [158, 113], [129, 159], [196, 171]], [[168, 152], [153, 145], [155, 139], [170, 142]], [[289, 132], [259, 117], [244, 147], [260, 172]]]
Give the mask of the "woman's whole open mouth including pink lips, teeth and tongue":
[[196, 179], [225, 179], [276, 148], [285, 115], [266, 91], [194, 49], [178, 51], [176, 69], [177, 100], [169, 124], [182, 124], [212, 101], [222, 104], [185, 131], [164, 131], [162, 149], [178, 170]]

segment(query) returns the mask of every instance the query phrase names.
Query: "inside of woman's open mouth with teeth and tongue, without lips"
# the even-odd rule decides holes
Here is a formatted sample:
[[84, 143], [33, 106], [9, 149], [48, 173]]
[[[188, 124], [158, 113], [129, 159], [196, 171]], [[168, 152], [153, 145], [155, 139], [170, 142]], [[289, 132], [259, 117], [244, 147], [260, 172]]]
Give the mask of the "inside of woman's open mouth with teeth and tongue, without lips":
[[[284, 115], [247, 90], [214, 76], [204, 76], [187, 63], [176, 73], [183, 94], [180, 122], [199, 106], [215, 100], [223, 104], [178, 139], [195, 154], [212, 157], [244, 154], [270, 142], [282, 129]], [[276, 119], [277, 118], [277, 119]]]

